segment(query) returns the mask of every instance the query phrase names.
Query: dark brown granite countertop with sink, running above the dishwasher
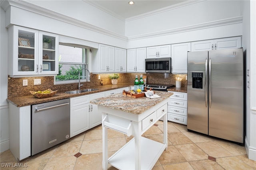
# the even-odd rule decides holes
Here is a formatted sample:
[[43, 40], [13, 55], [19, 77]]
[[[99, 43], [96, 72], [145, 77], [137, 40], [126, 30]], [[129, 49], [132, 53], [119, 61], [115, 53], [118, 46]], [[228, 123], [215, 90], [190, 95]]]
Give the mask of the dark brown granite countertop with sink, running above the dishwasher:
[[[116, 85], [94, 86], [91, 88], [96, 88], [98, 90], [95, 90], [92, 92], [83, 92], [83, 93], [79, 93], [79, 94], [67, 94], [65, 92], [57, 92], [54, 96], [52, 96], [50, 98], [36, 98], [33, 95], [30, 95], [30, 96], [7, 98], [6, 100], [7, 100], [7, 102], [10, 102], [11, 104], [13, 104], [16, 107], [22, 107], [22, 106], [29, 106], [29, 105], [40, 104], [40, 103], [45, 103], [45, 102], [52, 102], [55, 100], [84, 96], [84, 95], [92, 94], [92, 93], [105, 92], [107, 90], [125, 88], [130, 85], [132, 85], [132, 84], [120, 83], [120, 84], [116, 84]], [[87, 89], [87, 88], [85, 88], [85, 89]], [[75, 90], [77, 90], [77, 89], [75, 89]], [[83, 89], [81, 89], [81, 90], [83, 90]], [[72, 91], [72, 90], [70, 90], [70, 91]]]

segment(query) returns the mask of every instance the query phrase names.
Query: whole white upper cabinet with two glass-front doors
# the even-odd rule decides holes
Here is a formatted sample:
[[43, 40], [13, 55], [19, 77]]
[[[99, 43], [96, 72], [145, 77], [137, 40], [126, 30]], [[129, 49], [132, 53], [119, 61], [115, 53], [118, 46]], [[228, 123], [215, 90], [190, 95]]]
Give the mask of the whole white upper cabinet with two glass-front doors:
[[[13, 25], [8, 36], [11, 77], [58, 74], [58, 35]], [[48, 41], [47, 47], [43, 47], [43, 39]]]

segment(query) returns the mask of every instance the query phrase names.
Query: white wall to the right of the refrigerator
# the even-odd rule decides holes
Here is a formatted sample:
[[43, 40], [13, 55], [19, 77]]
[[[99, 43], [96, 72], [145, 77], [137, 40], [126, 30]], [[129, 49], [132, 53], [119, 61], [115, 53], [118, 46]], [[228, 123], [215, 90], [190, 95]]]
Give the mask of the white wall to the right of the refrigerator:
[[256, 1], [244, 1], [243, 41], [246, 55], [246, 137], [245, 147], [248, 158], [256, 160]]

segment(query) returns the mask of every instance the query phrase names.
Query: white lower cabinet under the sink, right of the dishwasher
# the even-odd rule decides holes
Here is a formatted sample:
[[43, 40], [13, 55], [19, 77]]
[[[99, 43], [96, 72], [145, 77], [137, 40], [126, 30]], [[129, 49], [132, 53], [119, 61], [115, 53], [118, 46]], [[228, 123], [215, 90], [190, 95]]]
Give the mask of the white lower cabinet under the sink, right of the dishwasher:
[[101, 124], [101, 112], [90, 100], [102, 98], [105, 92], [70, 98], [70, 137]]

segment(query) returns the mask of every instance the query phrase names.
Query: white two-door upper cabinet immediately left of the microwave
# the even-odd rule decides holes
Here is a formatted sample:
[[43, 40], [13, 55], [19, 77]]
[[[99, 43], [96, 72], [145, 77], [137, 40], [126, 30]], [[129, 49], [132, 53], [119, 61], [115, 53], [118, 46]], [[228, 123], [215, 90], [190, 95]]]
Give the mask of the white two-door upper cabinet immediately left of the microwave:
[[127, 72], [145, 72], [146, 47], [127, 50]]

